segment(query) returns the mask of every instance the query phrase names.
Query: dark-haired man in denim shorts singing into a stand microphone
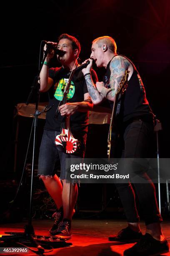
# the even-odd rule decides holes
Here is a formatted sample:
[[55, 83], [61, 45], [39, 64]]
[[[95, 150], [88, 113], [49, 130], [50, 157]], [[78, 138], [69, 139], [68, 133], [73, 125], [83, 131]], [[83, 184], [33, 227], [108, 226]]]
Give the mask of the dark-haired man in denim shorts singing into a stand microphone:
[[[69, 91], [67, 92], [67, 103], [60, 105], [63, 99], [65, 87], [71, 71], [79, 67], [77, 59], [80, 54], [79, 41], [68, 34], [62, 34], [57, 43], [48, 42], [48, 45], [63, 51], [57, 55], [61, 67], [49, 68], [50, 59], [55, 54], [53, 47], [48, 47], [48, 54], [40, 72], [40, 90], [48, 91], [49, 106], [53, 106], [46, 114], [44, 133], [40, 145], [38, 176], [42, 179], [45, 187], [56, 205], [56, 212], [52, 215], [55, 219], [50, 233], [54, 236], [70, 239], [71, 220], [77, 200], [77, 184], [66, 182], [65, 159], [83, 158], [85, 154], [85, 143], [87, 138], [88, 114], [92, 110], [92, 101], [87, 90], [87, 84], [81, 69], [75, 70]], [[46, 49], [46, 45], [45, 45]], [[92, 71], [92, 79], [97, 81], [97, 75]], [[59, 113], [56, 113], [56, 110]], [[56, 136], [61, 136], [63, 118], [70, 116], [70, 130], [72, 136], [78, 139], [77, 151], [68, 154], [65, 148], [60, 151], [55, 145]], [[65, 135], [63, 135], [65, 136]], [[58, 138], [58, 137], [57, 137]], [[61, 148], [60, 148], [61, 149]], [[55, 173], [57, 161], [60, 161], [60, 178]]]

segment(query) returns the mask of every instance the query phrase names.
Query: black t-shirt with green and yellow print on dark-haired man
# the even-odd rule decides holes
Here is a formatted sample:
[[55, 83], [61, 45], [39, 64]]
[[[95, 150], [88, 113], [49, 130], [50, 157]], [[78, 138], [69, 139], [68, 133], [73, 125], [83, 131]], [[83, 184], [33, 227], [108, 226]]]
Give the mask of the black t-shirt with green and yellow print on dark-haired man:
[[[92, 75], [96, 78], [94, 71], [92, 71]], [[57, 117], [55, 116], [59, 102], [63, 98], [64, 89], [70, 77], [70, 72], [66, 71], [62, 67], [50, 68], [49, 77], [54, 81], [52, 87], [48, 91], [49, 106], [53, 105], [53, 107], [46, 114], [46, 123], [44, 129], [60, 132], [62, 116], [60, 115], [60, 112], [57, 114]], [[75, 71], [72, 77], [69, 92], [67, 93], [67, 102], [82, 102], [84, 100], [84, 94], [87, 92], [87, 85], [82, 71]], [[72, 133], [87, 133], [88, 115], [89, 111], [77, 111], [70, 116], [70, 129]]]

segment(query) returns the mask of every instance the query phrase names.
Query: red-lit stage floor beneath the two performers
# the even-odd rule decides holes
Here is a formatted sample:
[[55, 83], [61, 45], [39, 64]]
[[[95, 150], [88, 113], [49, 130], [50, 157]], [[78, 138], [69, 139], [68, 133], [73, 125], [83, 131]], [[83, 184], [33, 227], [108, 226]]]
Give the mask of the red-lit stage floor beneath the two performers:
[[[36, 235], [49, 236], [49, 228], [52, 226], [52, 220], [32, 220], [32, 225]], [[10, 223], [0, 225], [0, 234], [2, 235], [5, 231], [7, 232], [23, 232], [24, 226], [27, 221], [22, 223]], [[145, 225], [141, 222], [141, 229], [145, 234]], [[107, 237], [113, 233], [117, 233], [120, 229], [126, 227], [125, 220], [72, 220], [72, 239], [68, 240], [67, 243], [72, 243], [71, 246], [64, 248], [54, 248], [49, 253], [44, 255], [57, 255], [57, 256], [122, 256], [123, 251], [133, 246], [133, 243], [120, 243], [110, 242]], [[170, 220], [165, 220], [162, 224], [163, 233], [168, 239], [170, 245]], [[3, 247], [1, 243], [1, 247]], [[54, 246], [56, 247], [56, 246]], [[0, 254], [2, 255], [2, 254]], [[11, 255], [11, 254], [3, 254]], [[16, 254], [12, 255], [36, 255], [32, 251], [27, 254]], [[170, 253], [163, 255], [170, 256]]]

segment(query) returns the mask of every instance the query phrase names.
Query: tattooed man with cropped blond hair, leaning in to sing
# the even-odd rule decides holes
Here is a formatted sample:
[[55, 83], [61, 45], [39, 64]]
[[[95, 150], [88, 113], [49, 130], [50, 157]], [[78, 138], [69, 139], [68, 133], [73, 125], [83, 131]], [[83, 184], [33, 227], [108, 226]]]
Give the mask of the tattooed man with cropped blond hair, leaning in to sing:
[[[106, 69], [103, 82], [97, 82], [96, 84], [92, 82], [90, 74], [91, 59], [89, 59], [90, 64], [82, 69], [82, 72], [92, 102], [98, 104], [104, 98], [107, 98], [111, 108], [115, 101], [117, 88], [121, 85], [125, 73], [129, 72], [126, 91], [119, 98], [121, 100], [120, 112], [116, 116], [119, 143], [116, 147], [115, 156], [135, 160], [147, 158], [149, 141], [154, 127], [153, 112], [146, 99], [145, 87], [135, 65], [127, 57], [118, 55], [116, 48], [116, 43], [110, 36], [102, 36], [92, 42], [90, 58], [95, 61], [97, 67], [105, 67]], [[135, 168], [133, 168], [134, 166]], [[155, 186], [140, 164], [134, 166], [130, 166], [131, 168], [128, 169], [129, 183], [115, 184], [128, 220], [128, 227], [110, 236], [109, 240], [138, 241], [132, 248], [124, 251], [124, 256], [159, 255], [168, 252], [168, 242], [160, 225], [162, 217], [155, 196]], [[145, 182], [134, 182], [134, 177], [142, 178]], [[143, 212], [146, 225], [145, 236], [142, 236], [140, 230], [135, 192], [130, 182], [135, 187]]]

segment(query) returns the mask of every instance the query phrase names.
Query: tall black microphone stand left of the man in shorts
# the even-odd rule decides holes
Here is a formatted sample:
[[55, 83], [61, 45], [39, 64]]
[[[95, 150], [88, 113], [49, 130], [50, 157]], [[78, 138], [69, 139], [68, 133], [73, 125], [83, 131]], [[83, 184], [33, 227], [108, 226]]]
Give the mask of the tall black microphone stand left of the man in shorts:
[[[45, 249], [40, 245], [40, 243], [42, 242], [58, 242], [58, 245], [60, 246], [68, 246], [68, 245], [72, 245], [72, 243], [65, 243], [65, 241], [62, 239], [62, 241], [60, 240], [60, 238], [56, 238], [56, 237], [52, 237], [52, 236], [35, 236], [35, 231], [34, 228], [32, 226], [32, 188], [33, 188], [33, 174], [34, 174], [34, 161], [35, 161], [35, 145], [36, 145], [36, 136], [37, 136], [37, 120], [38, 120], [38, 115], [40, 115], [41, 113], [47, 112], [48, 110], [50, 110], [53, 106], [51, 106], [50, 108], [45, 107], [45, 109], [40, 112], [38, 111], [38, 103], [40, 100], [40, 84], [38, 83], [38, 81], [40, 80], [40, 72], [42, 69], [42, 66], [44, 64], [45, 58], [47, 56], [48, 53], [48, 45], [47, 45], [47, 49], [44, 51], [44, 57], [42, 59], [41, 62], [41, 66], [40, 69], [37, 73], [37, 76], [35, 76], [32, 86], [31, 86], [31, 91], [28, 95], [28, 99], [26, 101], [26, 105], [28, 105], [30, 103], [30, 99], [33, 95], [33, 92], [35, 90], [37, 90], [37, 99], [36, 99], [36, 104], [35, 104], [35, 113], [34, 115], [34, 121], [33, 121], [33, 126], [34, 126], [34, 136], [33, 136], [33, 152], [32, 152], [32, 172], [31, 172], [31, 185], [30, 185], [30, 208], [29, 208], [29, 218], [28, 218], [28, 224], [25, 225], [25, 231], [24, 233], [21, 232], [5, 232], [5, 234], [9, 234], [9, 236], [5, 235], [2, 237], [0, 237], [0, 241], [4, 241], [4, 242], [20, 242], [20, 241], [30, 241], [34, 247], [37, 248], [37, 251], [34, 251], [35, 253], [42, 255], [45, 252]], [[40, 243], [38, 243], [40, 242]], [[21, 244], [21, 243], [19, 243]], [[25, 246], [22, 243], [23, 246]]]

